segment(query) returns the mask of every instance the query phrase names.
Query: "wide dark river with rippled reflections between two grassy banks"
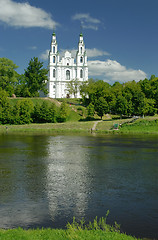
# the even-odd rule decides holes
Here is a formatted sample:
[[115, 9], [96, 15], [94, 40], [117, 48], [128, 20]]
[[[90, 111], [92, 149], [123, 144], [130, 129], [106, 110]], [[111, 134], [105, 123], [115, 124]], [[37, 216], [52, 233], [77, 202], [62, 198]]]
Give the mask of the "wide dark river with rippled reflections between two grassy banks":
[[96, 216], [158, 238], [158, 136], [0, 135], [0, 228]]

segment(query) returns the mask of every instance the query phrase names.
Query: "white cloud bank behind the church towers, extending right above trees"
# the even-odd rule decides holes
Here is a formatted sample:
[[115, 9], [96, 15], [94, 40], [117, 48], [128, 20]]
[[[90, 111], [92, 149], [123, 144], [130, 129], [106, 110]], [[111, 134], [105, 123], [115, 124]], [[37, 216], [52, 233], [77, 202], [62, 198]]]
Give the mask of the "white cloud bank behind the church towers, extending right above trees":
[[[64, 56], [66, 49], [61, 49], [60, 57]], [[76, 49], [68, 50], [71, 52], [72, 57], [76, 56]], [[49, 50], [46, 50], [40, 55], [40, 59], [48, 60]], [[87, 49], [87, 55], [90, 57], [99, 57], [110, 55], [105, 51], [98, 50], [96, 48]], [[127, 82], [127, 81], [139, 81], [141, 79], [145, 79], [147, 77], [146, 73], [142, 70], [135, 69], [127, 69], [125, 66], [121, 65], [119, 62], [114, 60], [93, 60], [88, 61], [88, 69], [89, 69], [89, 77], [92, 78], [100, 78], [109, 83], [114, 83], [116, 81], [119, 82]]]

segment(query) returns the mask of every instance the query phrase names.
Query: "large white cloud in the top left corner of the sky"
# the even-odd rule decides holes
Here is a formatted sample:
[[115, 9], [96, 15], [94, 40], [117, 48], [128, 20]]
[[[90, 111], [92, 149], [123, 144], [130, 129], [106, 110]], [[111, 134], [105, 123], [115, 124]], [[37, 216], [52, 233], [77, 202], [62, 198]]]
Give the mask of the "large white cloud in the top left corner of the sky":
[[17, 3], [12, 0], [0, 0], [0, 21], [13, 27], [56, 28], [59, 24], [41, 8], [29, 3]]

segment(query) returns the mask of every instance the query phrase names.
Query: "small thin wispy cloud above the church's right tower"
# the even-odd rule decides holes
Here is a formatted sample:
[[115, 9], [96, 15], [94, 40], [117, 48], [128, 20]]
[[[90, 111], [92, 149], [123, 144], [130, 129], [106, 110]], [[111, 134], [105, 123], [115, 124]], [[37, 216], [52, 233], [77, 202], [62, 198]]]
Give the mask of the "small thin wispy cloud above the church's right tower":
[[77, 13], [72, 16], [72, 20], [79, 20], [83, 28], [98, 30], [98, 25], [101, 21], [97, 18], [93, 18], [89, 13]]

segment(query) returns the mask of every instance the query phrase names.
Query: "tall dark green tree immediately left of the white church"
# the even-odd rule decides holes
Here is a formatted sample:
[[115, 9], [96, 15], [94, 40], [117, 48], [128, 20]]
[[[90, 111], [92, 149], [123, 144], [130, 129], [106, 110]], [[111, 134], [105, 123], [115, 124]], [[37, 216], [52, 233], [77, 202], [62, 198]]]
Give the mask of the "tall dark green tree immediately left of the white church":
[[38, 97], [39, 91], [47, 94], [47, 73], [48, 70], [43, 68], [43, 63], [37, 57], [30, 60], [29, 66], [24, 73], [26, 87], [30, 92], [30, 96]]

